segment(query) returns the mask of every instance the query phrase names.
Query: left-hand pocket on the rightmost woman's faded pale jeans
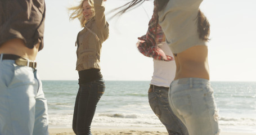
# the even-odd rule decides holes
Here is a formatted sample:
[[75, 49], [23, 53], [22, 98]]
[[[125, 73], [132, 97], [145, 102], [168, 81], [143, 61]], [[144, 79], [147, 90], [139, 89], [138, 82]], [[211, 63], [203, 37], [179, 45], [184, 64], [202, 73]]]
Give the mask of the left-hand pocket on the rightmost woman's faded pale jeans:
[[172, 104], [176, 108], [179, 115], [187, 118], [192, 115], [191, 96], [190, 95], [176, 95], [172, 96]]

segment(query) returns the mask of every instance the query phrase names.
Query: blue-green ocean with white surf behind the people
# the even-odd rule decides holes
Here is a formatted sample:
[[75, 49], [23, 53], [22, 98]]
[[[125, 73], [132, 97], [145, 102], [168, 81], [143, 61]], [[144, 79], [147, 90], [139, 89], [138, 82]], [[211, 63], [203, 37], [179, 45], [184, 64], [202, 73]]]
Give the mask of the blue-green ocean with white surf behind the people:
[[[78, 81], [42, 80], [50, 128], [71, 128]], [[164, 128], [152, 112], [149, 81], [105, 81], [92, 127]], [[256, 133], [256, 82], [211, 82], [225, 132]]]

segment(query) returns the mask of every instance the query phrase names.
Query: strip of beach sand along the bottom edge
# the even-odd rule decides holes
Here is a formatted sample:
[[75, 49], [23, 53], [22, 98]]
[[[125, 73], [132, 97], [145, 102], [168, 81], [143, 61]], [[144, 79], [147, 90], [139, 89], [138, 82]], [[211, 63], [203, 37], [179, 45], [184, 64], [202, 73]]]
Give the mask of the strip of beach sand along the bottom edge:
[[[50, 128], [50, 135], [75, 135], [71, 128]], [[93, 135], [168, 135], [165, 128], [92, 128]], [[256, 135], [256, 133], [221, 132], [221, 135]]]

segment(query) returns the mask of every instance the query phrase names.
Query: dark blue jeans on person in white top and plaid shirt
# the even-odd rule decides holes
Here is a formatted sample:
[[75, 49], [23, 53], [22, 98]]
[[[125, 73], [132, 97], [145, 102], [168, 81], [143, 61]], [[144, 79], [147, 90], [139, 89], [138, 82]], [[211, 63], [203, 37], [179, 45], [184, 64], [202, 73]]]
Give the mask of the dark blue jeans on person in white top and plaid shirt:
[[149, 88], [149, 104], [171, 135], [188, 135], [185, 125], [173, 114], [168, 102], [168, 89]]

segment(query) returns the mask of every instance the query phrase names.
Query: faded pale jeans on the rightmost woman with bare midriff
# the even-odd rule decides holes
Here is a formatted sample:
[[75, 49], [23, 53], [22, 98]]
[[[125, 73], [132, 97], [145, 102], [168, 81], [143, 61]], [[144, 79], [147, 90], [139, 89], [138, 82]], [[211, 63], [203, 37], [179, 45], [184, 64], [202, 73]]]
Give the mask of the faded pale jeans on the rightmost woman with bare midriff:
[[182, 78], [170, 84], [169, 104], [190, 135], [219, 134], [218, 111], [210, 81]]

